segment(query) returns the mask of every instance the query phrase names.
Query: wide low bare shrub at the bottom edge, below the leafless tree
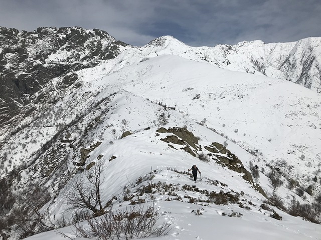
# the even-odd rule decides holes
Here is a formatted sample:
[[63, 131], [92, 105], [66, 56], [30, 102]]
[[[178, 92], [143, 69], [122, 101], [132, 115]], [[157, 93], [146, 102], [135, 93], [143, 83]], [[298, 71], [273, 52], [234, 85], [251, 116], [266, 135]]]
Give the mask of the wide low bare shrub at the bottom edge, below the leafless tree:
[[170, 223], [156, 226], [159, 213], [153, 206], [132, 206], [129, 209], [109, 211], [97, 218], [88, 220], [89, 229], [75, 224], [76, 236], [99, 239], [132, 239], [165, 235]]

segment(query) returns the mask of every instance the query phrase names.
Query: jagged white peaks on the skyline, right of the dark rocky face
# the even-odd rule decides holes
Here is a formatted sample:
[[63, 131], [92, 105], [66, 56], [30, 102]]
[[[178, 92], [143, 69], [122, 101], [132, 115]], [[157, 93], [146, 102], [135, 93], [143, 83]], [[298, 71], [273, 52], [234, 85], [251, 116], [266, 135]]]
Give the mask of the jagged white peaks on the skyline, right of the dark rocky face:
[[289, 80], [321, 91], [321, 38], [296, 42], [242, 41], [235, 45], [192, 47], [172, 36], [158, 37], [141, 48], [148, 56], [174, 54], [221, 68]]

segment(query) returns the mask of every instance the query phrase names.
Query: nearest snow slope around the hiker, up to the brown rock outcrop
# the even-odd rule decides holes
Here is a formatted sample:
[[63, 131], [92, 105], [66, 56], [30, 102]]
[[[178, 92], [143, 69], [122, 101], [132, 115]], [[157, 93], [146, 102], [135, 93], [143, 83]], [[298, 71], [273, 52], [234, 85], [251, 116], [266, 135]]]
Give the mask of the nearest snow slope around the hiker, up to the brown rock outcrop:
[[[129, 101], [137, 100], [129, 95], [126, 98]], [[125, 106], [119, 107], [118, 110], [118, 114], [124, 117], [129, 117], [131, 114], [127, 112]], [[184, 119], [174, 112], [173, 114], [176, 123]], [[170, 117], [168, 127], [173, 124], [172, 120], [173, 118]], [[134, 121], [131, 121], [129, 125], [133, 123]], [[199, 146], [203, 146], [205, 153], [207, 153], [205, 145], [211, 144], [211, 141], [224, 140], [220, 135], [199, 124], [191, 124], [190, 128], [196, 134], [206, 135], [206, 139], [199, 141]], [[172, 144], [174, 148], [170, 147], [168, 143], [160, 140], [168, 133], [157, 133], [155, 130], [155, 127], [141, 130], [122, 139], [116, 139], [112, 144], [109, 141], [103, 141], [86, 160], [86, 164], [89, 164], [92, 161], [99, 161], [99, 156], [102, 156], [100, 160], [104, 162], [105, 167], [103, 172], [105, 181], [101, 187], [103, 203], [112, 198], [114, 210], [119, 210], [129, 208], [132, 206], [130, 202], [140, 199], [144, 201], [142, 205], [145, 207], [154, 205], [161, 213], [158, 224], [171, 223], [172, 227], [168, 235], [150, 239], [212, 239], [213, 235], [220, 239], [233, 237], [238, 239], [257, 239], [258, 237], [271, 239], [273, 237], [280, 240], [318, 239], [321, 232], [320, 225], [302, 221], [275, 207], [272, 209], [282, 217], [282, 220], [270, 217], [272, 212], [261, 207], [264, 196], [255, 191], [251, 183], [241, 177], [242, 174], [222, 167], [215, 160], [201, 161], [180, 149], [179, 144]], [[251, 158], [245, 150], [231, 142], [229, 145], [240, 159]], [[187, 173], [187, 169], [193, 164], [197, 164], [202, 172], [199, 175], [201, 180], [196, 183]], [[77, 175], [80, 174], [83, 173]], [[266, 191], [271, 190], [267, 177], [261, 174], [260, 179]], [[155, 187], [151, 193], [138, 193], [141, 192], [139, 189], [142, 189], [142, 186], [148, 184], [163, 187], [171, 185], [175, 191], [171, 192], [167, 189], [165, 193], [161, 193], [163, 187]], [[202, 192], [203, 190], [240, 194], [240, 200], [227, 205], [207, 203], [206, 200], [209, 197]], [[61, 192], [65, 191], [68, 191], [68, 185]], [[282, 190], [281, 193], [286, 194], [286, 191]], [[292, 191], [287, 192], [289, 193], [295, 195]], [[127, 195], [133, 198], [125, 200], [124, 197]], [[288, 197], [291, 198], [290, 195]], [[61, 195], [46, 207], [53, 222], [61, 217], [69, 219], [73, 213], [64, 210], [66, 205]], [[81, 224], [87, 226], [86, 222]], [[73, 226], [41, 233], [27, 239], [63, 239], [65, 236], [59, 231], [73, 239], [82, 239], [74, 238]]]

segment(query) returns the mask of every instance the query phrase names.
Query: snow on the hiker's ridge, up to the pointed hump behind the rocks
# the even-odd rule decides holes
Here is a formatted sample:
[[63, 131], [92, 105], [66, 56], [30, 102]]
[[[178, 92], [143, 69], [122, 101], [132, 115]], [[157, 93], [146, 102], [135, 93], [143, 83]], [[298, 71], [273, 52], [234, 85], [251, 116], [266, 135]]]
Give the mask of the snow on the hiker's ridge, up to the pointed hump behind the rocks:
[[[180, 58], [175, 58], [174, 61], [178, 64]], [[92, 81], [90, 85], [94, 89], [96, 86], [109, 85], [110, 83], [110, 80], [102, 78]], [[102, 90], [102, 92], [107, 91]], [[100, 98], [102, 95], [97, 97]], [[72, 100], [69, 99], [68, 102], [72, 102]], [[99, 108], [103, 110], [104, 114], [100, 114], [101, 118], [97, 125], [89, 130], [90, 135], [93, 138], [98, 137], [98, 139], [92, 139], [92, 142], [88, 142], [85, 147], [89, 148], [89, 145], [97, 140], [102, 141], [102, 143], [88, 154], [84, 166], [93, 161], [104, 163], [104, 183], [101, 187], [103, 204], [113, 199], [114, 209], [117, 210], [130, 207], [131, 201], [143, 199], [145, 201], [144, 206], [153, 204], [159, 210], [161, 213], [159, 224], [163, 221], [170, 222], [172, 228], [167, 236], [156, 239], [212, 239], [213, 235], [219, 236], [221, 239], [231, 239], [231, 237], [257, 239], [259, 236], [261, 239], [270, 239], [271, 237], [273, 239], [318, 239], [321, 231], [320, 225], [302, 221], [300, 218], [290, 216], [275, 207], [272, 207], [272, 209], [282, 216], [282, 220], [270, 217], [272, 212], [261, 207], [265, 197], [252, 187], [252, 183], [243, 179], [242, 173], [228, 169], [226, 166], [223, 167], [211, 157], [209, 157], [210, 161], [204, 162], [181, 149], [182, 145], [171, 143], [171, 147], [161, 140], [171, 134], [156, 131], [161, 127], [161, 121], [164, 120], [159, 119], [158, 116], [166, 113], [165, 118], [168, 121], [168, 124], [165, 125], [166, 128], [183, 126], [184, 124], [195, 136], [199, 136], [198, 146], [201, 146], [201, 150], [198, 150], [197, 153], [210, 153], [204, 146], [208, 146], [212, 142], [223, 143], [226, 140], [224, 137], [191, 121], [186, 114], [181, 114], [169, 108], [165, 110], [163, 106], [151, 103], [149, 100], [127, 91], [109, 96], [108, 102], [105, 103], [105, 110], [104, 104], [97, 108], [97, 110]], [[79, 106], [80, 109], [82, 107]], [[66, 109], [66, 113], [68, 111]], [[92, 111], [92, 113], [94, 112], [96, 110]], [[89, 113], [85, 118], [93, 119], [92, 113]], [[122, 119], [125, 119], [125, 121]], [[88, 120], [83, 119], [82, 124], [79, 125], [80, 128], [84, 127], [83, 123]], [[148, 126], [150, 129], [148, 129]], [[113, 135], [112, 129], [116, 129], [114, 131], [116, 136]], [[130, 130], [133, 134], [118, 139], [118, 132], [125, 130]], [[69, 128], [68, 131], [71, 133], [68, 139], [72, 144], [77, 145], [77, 141], [83, 136], [80, 137], [75, 134], [75, 128]], [[101, 135], [99, 136], [99, 134]], [[227, 143], [228, 149], [236, 154], [245, 166], [248, 166], [249, 160], [253, 160], [253, 156], [233, 142], [227, 140]], [[69, 143], [63, 144], [66, 148], [69, 147]], [[78, 160], [79, 157], [75, 159]], [[29, 169], [33, 172], [31, 175], [35, 178], [34, 180], [43, 179], [40, 175], [37, 175], [41, 174], [40, 165], [43, 162], [37, 162], [38, 173]], [[65, 162], [64, 164], [68, 164], [71, 171], [74, 168], [77, 169], [70, 163]], [[193, 164], [197, 164], [202, 172], [199, 175], [199, 178], [202, 178], [201, 181], [196, 183], [192, 181], [187, 172], [187, 169]], [[86, 170], [80, 171], [75, 177], [83, 175], [85, 172]], [[152, 179], [150, 180], [151, 176]], [[23, 182], [28, 182], [29, 179], [23, 178]], [[266, 192], [272, 191], [271, 184], [265, 175], [260, 173], [259, 180]], [[158, 182], [161, 182], [162, 185], [172, 184], [175, 190], [172, 193], [167, 191], [164, 194], [161, 193], [162, 190], [155, 189], [153, 193], [138, 194], [143, 185]], [[50, 184], [52, 186], [53, 182], [50, 182]], [[189, 189], [189, 186], [192, 187], [192, 190]], [[129, 189], [129, 192], [126, 189]], [[207, 200], [208, 196], [200, 192], [202, 190], [239, 193], [240, 199], [239, 202], [228, 203], [227, 205], [207, 203], [203, 201]], [[62, 217], [67, 220], [73, 214], [73, 211], [65, 210], [67, 206], [62, 194], [66, 191], [68, 192], [68, 184], [54, 200], [48, 202], [43, 208], [48, 209], [52, 222], [57, 222]], [[291, 195], [293, 195], [296, 199], [302, 201], [294, 191], [285, 187], [279, 189], [279, 194], [284, 195], [287, 200], [290, 200]], [[131, 200], [126, 200], [124, 198], [126, 195], [133, 195], [134, 197]], [[178, 197], [181, 197], [181, 200], [178, 200]], [[196, 202], [191, 201], [193, 198], [197, 199]], [[82, 224], [86, 225], [86, 222]], [[27, 239], [64, 238], [58, 231], [74, 237], [72, 229], [72, 226], [68, 226]]]

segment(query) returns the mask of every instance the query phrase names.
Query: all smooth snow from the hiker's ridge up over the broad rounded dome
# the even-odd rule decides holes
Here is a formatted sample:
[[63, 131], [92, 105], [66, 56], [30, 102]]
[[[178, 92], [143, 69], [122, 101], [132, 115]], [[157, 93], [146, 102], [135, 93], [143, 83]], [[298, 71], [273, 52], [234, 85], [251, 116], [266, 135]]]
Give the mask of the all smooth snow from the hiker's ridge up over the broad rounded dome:
[[[115, 195], [115, 209], [129, 206], [129, 201], [123, 200], [124, 189], [130, 188], [132, 194], [137, 194], [139, 187], [148, 184], [148, 180], [135, 183], [141, 176], [149, 179], [148, 176], [152, 174], [154, 183], [161, 181], [178, 186], [176, 193], [182, 197], [182, 201], [165, 200], [175, 197], [157, 191], [141, 196], [145, 205], [154, 204], [158, 207], [162, 213], [160, 222], [168, 221], [172, 224], [169, 234], [157, 239], [213, 239], [213, 236], [221, 239], [319, 239], [321, 227], [318, 224], [290, 216], [277, 208], [274, 210], [282, 216], [282, 220], [271, 218], [271, 212], [260, 207], [265, 197], [244, 180], [241, 173], [222, 167], [215, 160], [203, 162], [180, 149], [180, 145], [173, 144], [174, 148], [170, 147], [161, 140], [167, 133], [156, 134], [156, 129], [162, 125], [162, 119], [158, 116], [165, 113], [168, 121], [165, 127], [187, 125], [194, 135], [201, 138], [199, 144], [203, 150], [198, 153], [209, 153], [204, 146], [211, 142], [226, 141], [228, 149], [246, 167], [251, 160], [268, 169], [266, 163], [276, 164], [285, 159], [289, 165], [293, 164], [291, 171], [287, 172], [289, 175], [296, 176], [302, 172], [312, 174], [311, 169], [315, 169], [318, 164], [314, 157], [318, 156], [317, 146], [320, 143], [318, 114], [321, 99], [317, 93], [288, 81], [220, 69], [174, 55], [147, 59], [105, 77], [96, 78], [93, 73], [92, 78], [87, 76], [84, 80], [78, 93], [83, 92], [82, 89], [87, 89], [87, 92], [99, 89], [96, 97], [103, 98], [109, 92], [116, 92], [109, 96], [109, 110], [101, 119], [102, 122], [92, 130], [88, 145], [97, 140], [102, 143], [90, 152], [85, 163], [87, 165], [97, 161], [102, 155], [100, 160], [106, 167], [102, 187], [104, 203]], [[79, 102], [72, 103], [79, 100], [78, 93], [70, 94], [71, 98], [66, 97], [63, 105], [69, 105], [70, 109], [82, 109]], [[90, 101], [91, 94], [87, 93], [86, 97]], [[89, 104], [88, 101], [86, 104]], [[162, 106], [165, 104], [166, 108]], [[305, 104], [306, 107], [302, 107]], [[171, 107], [175, 107], [175, 110]], [[70, 113], [70, 110], [66, 109], [65, 112]], [[90, 114], [85, 118], [92, 119]], [[116, 129], [115, 136], [113, 128]], [[125, 130], [134, 134], [118, 139]], [[216, 132], [228, 136], [237, 144]], [[77, 139], [78, 136], [72, 134], [71, 137]], [[238, 145], [250, 149], [246, 151]], [[302, 152], [307, 158], [304, 163], [309, 160], [311, 166], [297, 164]], [[110, 160], [112, 156], [116, 158]], [[202, 180], [197, 183], [193, 183], [186, 172], [193, 164], [197, 164], [202, 172]], [[297, 177], [304, 184], [304, 178], [301, 175]], [[219, 184], [214, 185], [213, 181]], [[271, 183], [264, 174], [260, 173], [257, 181], [266, 192], [272, 192]], [[243, 192], [240, 197], [243, 207], [239, 203], [204, 203], [201, 200], [206, 199], [206, 196], [182, 189], [185, 184], [216, 192]], [[61, 193], [66, 189], [68, 184]], [[303, 202], [294, 190], [285, 186], [277, 192], [287, 202], [292, 197]], [[54, 202], [45, 206], [50, 215], [55, 217], [53, 221], [72, 214], [64, 210], [66, 205], [61, 193]], [[186, 195], [199, 200], [190, 203]], [[197, 210], [202, 214], [195, 214]], [[228, 216], [233, 212], [238, 217]], [[70, 227], [61, 230], [74, 237]], [[28, 239], [43, 237], [59, 239], [59, 234], [52, 231]]]

